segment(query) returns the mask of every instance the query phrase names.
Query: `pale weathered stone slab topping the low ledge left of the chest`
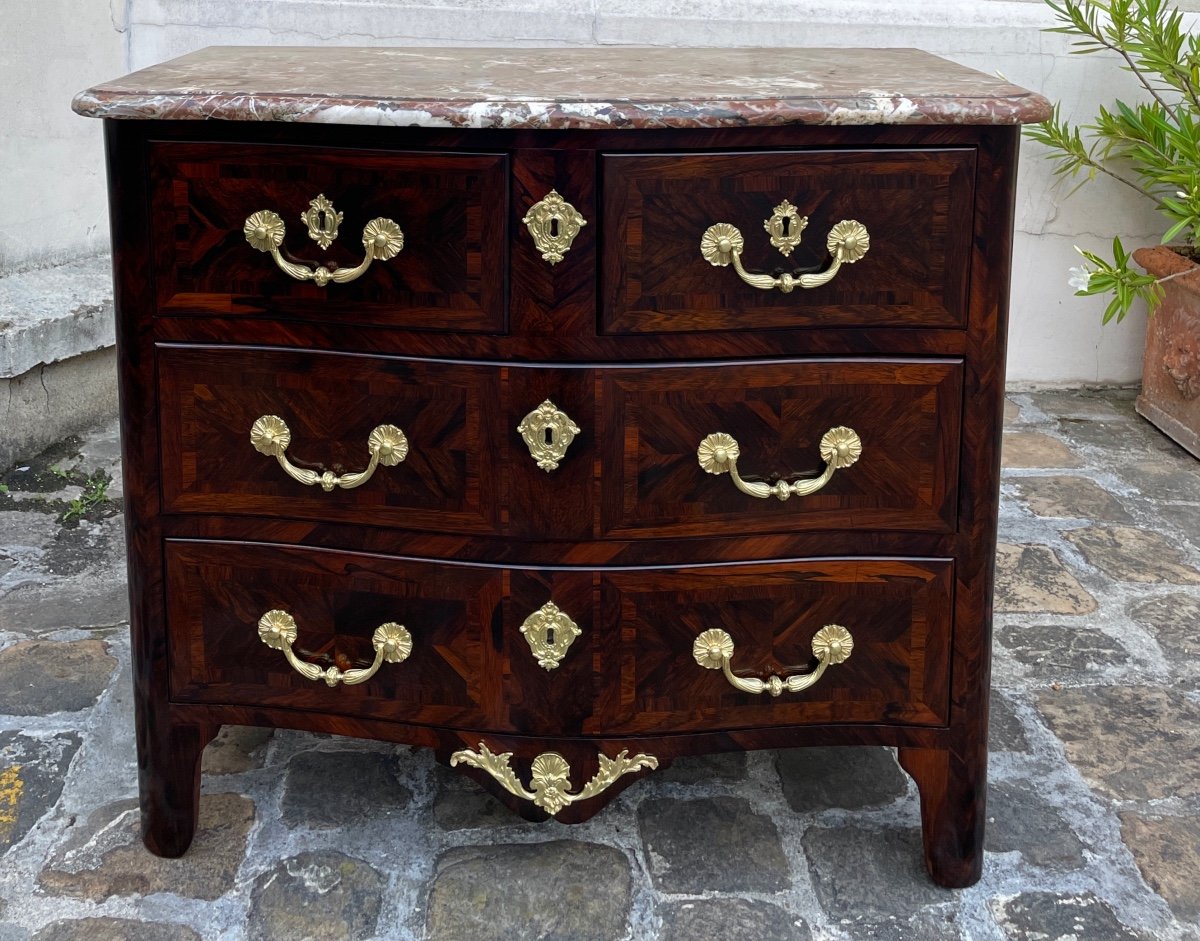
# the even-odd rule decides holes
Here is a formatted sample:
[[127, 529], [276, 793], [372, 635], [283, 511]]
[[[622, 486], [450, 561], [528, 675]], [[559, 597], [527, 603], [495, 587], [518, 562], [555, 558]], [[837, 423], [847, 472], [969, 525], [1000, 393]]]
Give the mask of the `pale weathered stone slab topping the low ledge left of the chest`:
[[0, 277], [0, 379], [115, 342], [109, 256]]

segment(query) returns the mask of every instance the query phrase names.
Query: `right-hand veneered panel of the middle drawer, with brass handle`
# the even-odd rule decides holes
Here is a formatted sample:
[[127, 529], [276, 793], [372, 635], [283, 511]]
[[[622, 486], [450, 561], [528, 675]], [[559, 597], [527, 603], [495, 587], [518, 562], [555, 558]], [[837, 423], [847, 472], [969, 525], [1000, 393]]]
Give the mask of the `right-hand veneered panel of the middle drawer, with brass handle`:
[[[604, 535], [955, 528], [956, 361], [613, 368], [599, 376]], [[853, 438], [857, 460], [830, 473], [832, 463], [854, 456]], [[846, 448], [847, 439], [851, 450], [827, 462], [826, 446]], [[733, 468], [721, 460], [734, 455], [731, 440]], [[763, 498], [740, 489], [733, 470], [751, 491], [780, 481], [800, 493], [820, 487]]]

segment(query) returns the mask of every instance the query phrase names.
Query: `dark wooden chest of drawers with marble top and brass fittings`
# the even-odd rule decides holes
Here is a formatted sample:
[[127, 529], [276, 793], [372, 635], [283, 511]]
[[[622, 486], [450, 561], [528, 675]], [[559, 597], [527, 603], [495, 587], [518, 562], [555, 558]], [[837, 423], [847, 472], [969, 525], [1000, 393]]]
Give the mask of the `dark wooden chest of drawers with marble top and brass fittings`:
[[[899, 749], [979, 876], [1021, 89], [912, 50], [210, 49], [106, 120], [146, 845], [222, 724], [582, 821]], [[216, 119], [216, 120], [198, 120]]]

